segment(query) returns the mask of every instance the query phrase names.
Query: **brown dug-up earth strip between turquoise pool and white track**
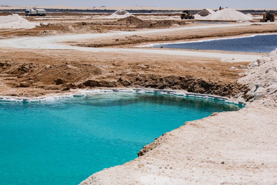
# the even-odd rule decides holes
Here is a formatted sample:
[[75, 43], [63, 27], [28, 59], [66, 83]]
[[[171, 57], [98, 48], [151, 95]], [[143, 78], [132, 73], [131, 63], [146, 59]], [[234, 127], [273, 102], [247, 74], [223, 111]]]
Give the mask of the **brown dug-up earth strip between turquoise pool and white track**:
[[[230, 97], [247, 92], [236, 83], [247, 65], [216, 58], [5, 48], [0, 51], [0, 95], [32, 97], [63, 92], [69, 86], [184, 89]], [[56, 85], [58, 78], [63, 84]]]

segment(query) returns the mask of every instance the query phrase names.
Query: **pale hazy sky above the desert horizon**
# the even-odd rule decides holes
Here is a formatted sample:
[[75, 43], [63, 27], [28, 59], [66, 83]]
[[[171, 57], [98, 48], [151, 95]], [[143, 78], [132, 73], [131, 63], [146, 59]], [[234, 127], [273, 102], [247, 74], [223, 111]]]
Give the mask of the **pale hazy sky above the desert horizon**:
[[[266, 2], [266, 3], [265, 3]], [[72, 6], [158, 6], [158, 7], [188, 7], [188, 8], [218, 8], [219, 6], [230, 8], [277, 8], [276, 0], [1, 0], [0, 4], [7, 5], [72, 5]], [[272, 5], [274, 7], [272, 7]]]

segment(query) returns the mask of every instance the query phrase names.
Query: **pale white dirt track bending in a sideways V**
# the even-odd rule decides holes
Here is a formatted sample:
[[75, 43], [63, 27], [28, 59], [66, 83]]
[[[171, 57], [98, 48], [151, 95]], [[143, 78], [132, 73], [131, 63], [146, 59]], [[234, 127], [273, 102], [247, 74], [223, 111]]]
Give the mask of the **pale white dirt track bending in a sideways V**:
[[[244, 23], [243, 25], [250, 25], [251, 23]], [[73, 40], [84, 40], [93, 38], [104, 38], [111, 36], [122, 36], [122, 35], [134, 35], [134, 34], [159, 34], [162, 32], [174, 32], [180, 30], [191, 30], [191, 29], [207, 29], [216, 27], [233, 27], [241, 24], [220, 24], [220, 25], [201, 25], [191, 27], [181, 27], [173, 29], [151, 29], [135, 32], [111, 32], [104, 34], [67, 34], [67, 35], [53, 35], [53, 36], [32, 36], [22, 38], [11, 38], [0, 40], [1, 47], [14, 47], [14, 48], [29, 48], [29, 49], [74, 49], [81, 51], [91, 52], [137, 52], [137, 53], [156, 53], [161, 55], [178, 55], [178, 56], [202, 56], [208, 58], [220, 58], [225, 62], [248, 62], [258, 59], [258, 55], [243, 55], [243, 54], [227, 54], [227, 53], [212, 53], [212, 52], [197, 52], [197, 51], [173, 51], [173, 50], [160, 50], [160, 49], [131, 49], [131, 48], [91, 48], [91, 47], [76, 47], [69, 46], [63, 42]], [[235, 60], [232, 60], [235, 59]]]

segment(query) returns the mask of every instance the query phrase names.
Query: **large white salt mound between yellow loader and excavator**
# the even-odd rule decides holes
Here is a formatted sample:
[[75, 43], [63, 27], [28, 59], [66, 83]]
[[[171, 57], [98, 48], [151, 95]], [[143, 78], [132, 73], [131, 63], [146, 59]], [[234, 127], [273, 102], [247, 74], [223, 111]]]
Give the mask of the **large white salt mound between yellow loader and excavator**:
[[225, 8], [218, 10], [214, 14], [210, 14], [204, 18], [205, 20], [219, 20], [219, 21], [250, 21], [252, 18], [243, 14], [242, 12]]

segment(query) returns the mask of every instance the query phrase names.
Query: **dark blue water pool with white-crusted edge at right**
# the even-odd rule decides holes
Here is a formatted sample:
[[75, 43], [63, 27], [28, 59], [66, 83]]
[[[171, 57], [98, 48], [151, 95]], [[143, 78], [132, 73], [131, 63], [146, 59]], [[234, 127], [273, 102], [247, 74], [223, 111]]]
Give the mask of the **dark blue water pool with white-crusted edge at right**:
[[264, 52], [277, 48], [277, 34], [257, 35], [252, 37], [207, 40], [201, 42], [186, 42], [175, 44], [155, 44], [153, 47], [179, 49], [212, 49], [222, 51]]

